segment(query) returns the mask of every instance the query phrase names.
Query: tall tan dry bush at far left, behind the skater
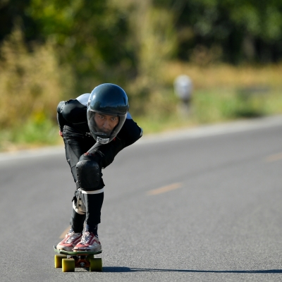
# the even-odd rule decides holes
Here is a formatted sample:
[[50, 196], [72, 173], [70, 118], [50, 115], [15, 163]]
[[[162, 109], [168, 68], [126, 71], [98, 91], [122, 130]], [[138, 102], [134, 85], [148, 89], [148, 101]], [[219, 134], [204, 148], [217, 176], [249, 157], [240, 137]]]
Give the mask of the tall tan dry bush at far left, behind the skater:
[[34, 45], [29, 51], [16, 27], [0, 52], [0, 127], [23, 125], [36, 115], [55, 121], [61, 97], [72, 94], [73, 77], [60, 66], [52, 45]]

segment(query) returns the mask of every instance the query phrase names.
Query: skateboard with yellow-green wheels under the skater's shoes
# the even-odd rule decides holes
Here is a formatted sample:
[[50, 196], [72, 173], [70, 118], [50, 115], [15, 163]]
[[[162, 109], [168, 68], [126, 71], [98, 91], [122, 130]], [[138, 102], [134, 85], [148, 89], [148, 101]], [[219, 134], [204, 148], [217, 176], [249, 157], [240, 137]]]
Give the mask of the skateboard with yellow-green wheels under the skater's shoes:
[[57, 250], [54, 246], [54, 251], [59, 255], [55, 255], [55, 268], [61, 268], [63, 272], [73, 272], [75, 268], [89, 268], [89, 271], [102, 271], [102, 258], [94, 257], [102, 253], [98, 252], [68, 252]]

